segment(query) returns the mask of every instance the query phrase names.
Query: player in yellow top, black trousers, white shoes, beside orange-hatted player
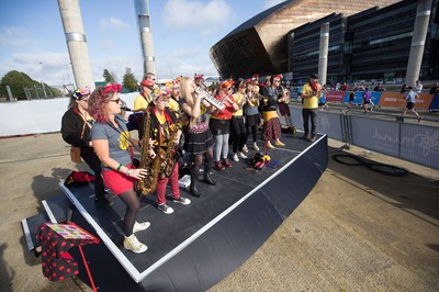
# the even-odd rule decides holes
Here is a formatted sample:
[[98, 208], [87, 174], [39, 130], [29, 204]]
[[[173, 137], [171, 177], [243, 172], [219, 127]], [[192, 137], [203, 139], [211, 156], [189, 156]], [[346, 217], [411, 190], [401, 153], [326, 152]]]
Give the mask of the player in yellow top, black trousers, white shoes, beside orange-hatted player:
[[244, 146], [246, 145], [246, 125], [244, 123], [244, 111], [243, 111], [243, 108], [247, 101], [245, 94], [246, 82], [238, 81], [236, 83], [236, 89], [237, 91], [233, 94], [233, 97], [236, 103], [238, 104], [238, 110], [232, 114], [230, 128], [235, 137], [233, 141], [233, 151], [234, 151], [233, 159], [234, 161], [237, 162], [239, 161], [239, 158], [243, 159], [247, 158], [247, 156], [244, 154], [247, 147], [244, 148]]

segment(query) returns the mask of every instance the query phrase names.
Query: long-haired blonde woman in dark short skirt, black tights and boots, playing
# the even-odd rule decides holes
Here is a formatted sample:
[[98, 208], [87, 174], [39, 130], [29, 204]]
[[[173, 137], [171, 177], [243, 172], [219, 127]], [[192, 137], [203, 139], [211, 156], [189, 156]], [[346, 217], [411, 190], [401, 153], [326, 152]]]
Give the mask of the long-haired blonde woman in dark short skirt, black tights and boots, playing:
[[[213, 160], [213, 138], [209, 128], [206, 113], [212, 112], [213, 105], [204, 100], [205, 92], [196, 93], [196, 86], [189, 77], [180, 81], [180, 94], [182, 98], [181, 110], [188, 116], [188, 127], [184, 136], [184, 150], [191, 158], [191, 187], [193, 196], [201, 196], [198, 190], [198, 180], [215, 186], [211, 178]], [[204, 172], [201, 166], [204, 159]]]

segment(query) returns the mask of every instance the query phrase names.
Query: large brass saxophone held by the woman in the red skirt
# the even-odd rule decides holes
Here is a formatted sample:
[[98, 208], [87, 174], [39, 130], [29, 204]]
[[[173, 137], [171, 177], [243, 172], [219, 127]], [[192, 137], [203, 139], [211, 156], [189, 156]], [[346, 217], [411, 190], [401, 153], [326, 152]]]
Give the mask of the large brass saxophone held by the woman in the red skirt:
[[147, 195], [154, 192], [157, 189], [157, 180], [158, 180], [158, 168], [160, 167], [160, 155], [157, 154], [155, 159], [153, 160], [149, 156], [149, 127], [150, 127], [150, 119], [149, 112], [144, 112], [145, 123], [144, 123], [144, 138], [143, 138], [143, 147], [142, 147], [142, 159], [138, 168], [143, 168], [147, 170], [147, 175], [145, 178], [137, 180], [135, 189], [139, 191], [143, 195]]

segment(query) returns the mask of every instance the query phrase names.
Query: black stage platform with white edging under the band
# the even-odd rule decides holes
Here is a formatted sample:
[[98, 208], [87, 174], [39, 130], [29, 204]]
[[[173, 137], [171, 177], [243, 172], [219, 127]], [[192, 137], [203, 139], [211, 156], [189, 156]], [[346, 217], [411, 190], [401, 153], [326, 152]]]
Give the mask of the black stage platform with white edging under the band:
[[[205, 291], [227, 277], [306, 198], [327, 167], [326, 135], [315, 143], [283, 135], [282, 142], [285, 147], [269, 150], [273, 167], [254, 172], [243, 159], [233, 162], [213, 173], [216, 186], [200, 183], [202, 198], [182, 190], [190, 205], [169, 200], [175, 209], [170, 215], [157, 210], [155, 194], [143, 198], [137, 221], [151, 226], [136, 234], [148, 246], [140, 255], [122, 248], [121, 200], [112, 198], [113, 206], [97, 209], [92, 188], [61, 184], [75, 204], [72, 222], [101, 239], [83, 247], [94, 284], [101, 291]], [[70, 254], [81, 262], [78, 251]], [[79, 276], [88, 283], [81, 269]]]

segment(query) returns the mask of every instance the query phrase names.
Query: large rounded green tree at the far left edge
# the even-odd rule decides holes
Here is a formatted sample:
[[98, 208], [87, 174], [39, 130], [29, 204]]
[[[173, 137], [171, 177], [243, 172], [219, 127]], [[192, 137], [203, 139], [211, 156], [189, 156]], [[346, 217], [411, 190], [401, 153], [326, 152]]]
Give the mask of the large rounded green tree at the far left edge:
[[[41, 87], [41, 83], [33, 80], [24, 72], [19, 72], [16, 70], [12, 70], [7, 72], [0, 80], [0, 96], [7, 97], [5, 86], [9, 86], [12, 91], [12, 96], [18, 100], [25, 100], [26, 94], [24, 93], [24, 87]], [[4, 93], [3, 93], [4, 91]]]

